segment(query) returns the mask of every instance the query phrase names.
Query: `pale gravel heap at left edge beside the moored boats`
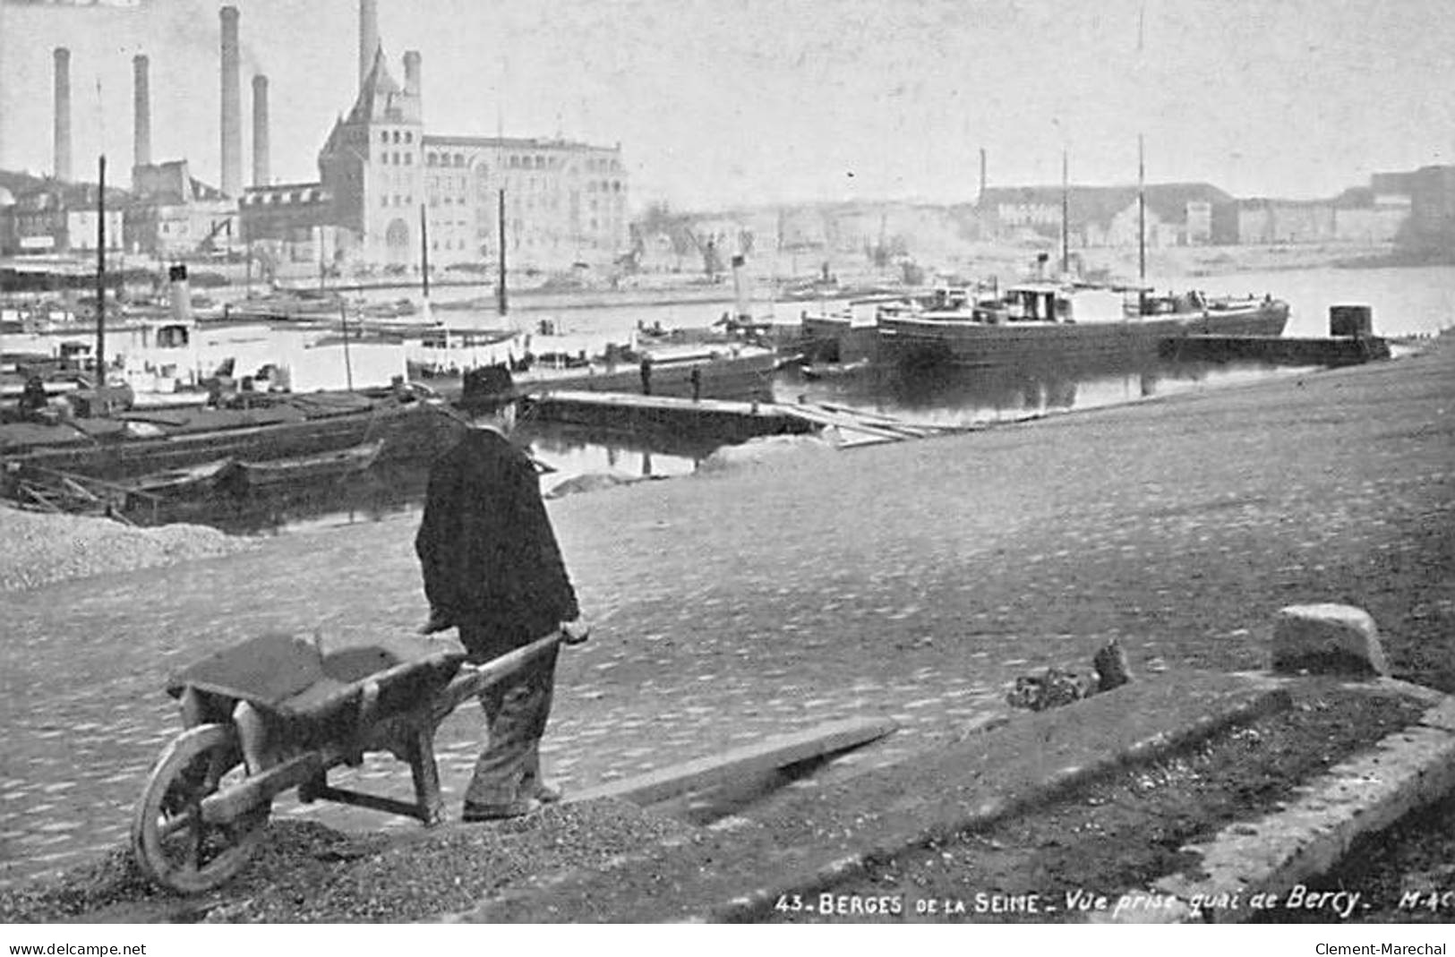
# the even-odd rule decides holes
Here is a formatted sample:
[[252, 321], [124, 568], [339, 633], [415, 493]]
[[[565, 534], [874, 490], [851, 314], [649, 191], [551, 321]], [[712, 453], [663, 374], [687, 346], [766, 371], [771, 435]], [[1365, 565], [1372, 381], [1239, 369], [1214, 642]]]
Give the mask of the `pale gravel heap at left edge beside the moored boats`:
[[0, 592], [147, 569], [253, 547], [202, 525], [131, 528], [103, 518], [42, 515], [0, 505]]

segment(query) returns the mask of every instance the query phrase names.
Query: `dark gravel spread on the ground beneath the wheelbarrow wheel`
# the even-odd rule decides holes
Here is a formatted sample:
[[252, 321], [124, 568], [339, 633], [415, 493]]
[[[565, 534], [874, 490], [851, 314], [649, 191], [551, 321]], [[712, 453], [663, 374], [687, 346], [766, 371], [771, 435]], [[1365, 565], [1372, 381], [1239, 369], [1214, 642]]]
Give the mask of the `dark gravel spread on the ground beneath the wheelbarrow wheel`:
[[614, 800], [560, 804], [519, 822], [418, 830], [403, 839], [282, 820], [269, 826], [247, 868], [211, 894], [160, 892], [118, 848], [54, 881], [0, 892], [0, 922], [428, 921], [534, 878], [605, 867], [690, 832], [682, 822]]

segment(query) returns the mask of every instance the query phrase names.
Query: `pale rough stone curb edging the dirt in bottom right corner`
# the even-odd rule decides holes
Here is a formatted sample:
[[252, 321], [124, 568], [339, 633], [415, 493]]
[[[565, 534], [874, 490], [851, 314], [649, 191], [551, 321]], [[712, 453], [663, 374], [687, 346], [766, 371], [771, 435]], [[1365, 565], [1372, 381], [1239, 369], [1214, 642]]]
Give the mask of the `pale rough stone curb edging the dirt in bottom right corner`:
[[[1138, 913], [1093, 915], [1088, 922], [1237, 924], [1273, 909], [1352, 913], [1362, 902], [1347, 894], [1291, 892], [1337, 865], [1356, 838], [1455, 791], [1455, 695], [1392, 679], [1379, 684], [1381, 691], [1432, 707], [1414, 724], [1301, 787], [1302, 797], [1283, 810], [1231, 825], [1208, 844], [1186, 848], [1202, 855], [1199, 870], [1206, 877], [1164, 877]], [[1267, 906], [1254, 909], [1256, 896]], [[1192, 906], [1205, 902], [1211, 903]]]

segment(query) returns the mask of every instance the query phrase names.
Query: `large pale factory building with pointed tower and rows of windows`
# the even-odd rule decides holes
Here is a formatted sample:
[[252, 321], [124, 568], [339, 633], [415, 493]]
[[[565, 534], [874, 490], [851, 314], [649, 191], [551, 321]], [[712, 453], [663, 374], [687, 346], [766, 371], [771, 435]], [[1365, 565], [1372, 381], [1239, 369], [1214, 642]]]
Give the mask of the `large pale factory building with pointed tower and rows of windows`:
[[247, 189], [244, 241], [269, 244], [284, 262], [322, 256], [340, 272], [418, 272], [426, 256], [432, 269], [489, 268], [501, 252], [503, 191], [512, 269], [607, 265], [629, 247], [620, 144], [429, 132], [422, 58], [404, 54], [400, 83], [374, 17], [375, 4], [362, 0], [359, 92], [319, 153], [319, 182]]

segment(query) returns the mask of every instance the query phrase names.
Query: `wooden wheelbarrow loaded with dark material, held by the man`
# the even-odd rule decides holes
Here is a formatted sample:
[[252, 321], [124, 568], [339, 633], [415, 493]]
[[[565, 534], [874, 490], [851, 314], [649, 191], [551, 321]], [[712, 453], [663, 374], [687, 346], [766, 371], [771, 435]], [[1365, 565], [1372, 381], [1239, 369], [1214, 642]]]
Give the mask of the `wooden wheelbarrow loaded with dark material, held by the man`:
[[[274, 798], [291, 788], [304, 803], [438, 825], [445, 820], [434, 749], [439, 723], [535, 656], [585, 640], [563, 628], [485, 665], [403, 641], [324, 654], [316, 640], [288, 634], [217, 652], [167, 682], [185, 730], [163, 749], [137, 803], [137, 864], [175, 892], [218, 887], [258, 849]], [[370, 752], [409, 762], [412, 801], [329, 784], [329, 771], [356, 768]]]

